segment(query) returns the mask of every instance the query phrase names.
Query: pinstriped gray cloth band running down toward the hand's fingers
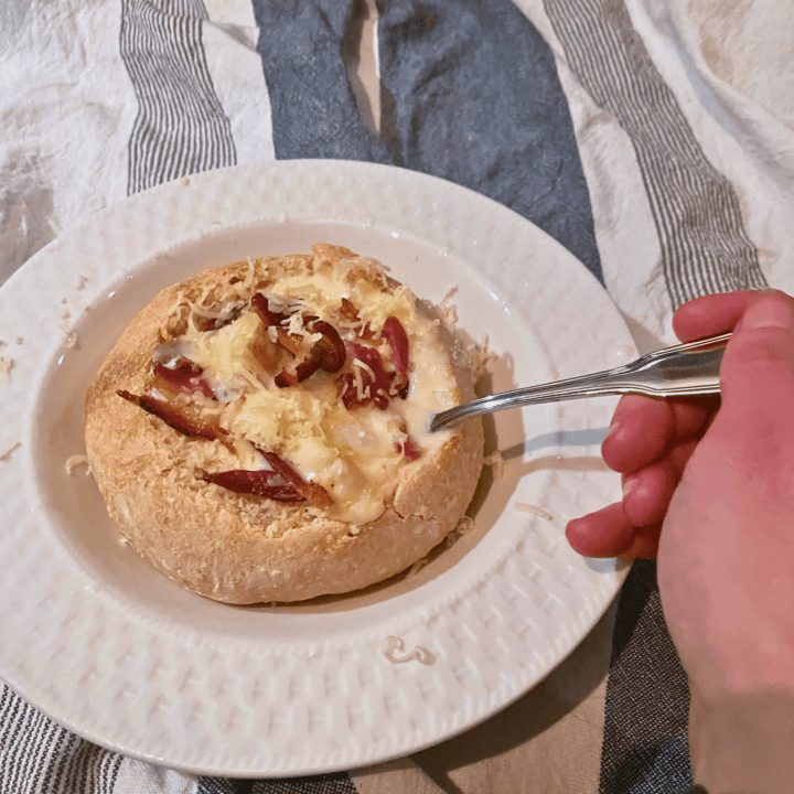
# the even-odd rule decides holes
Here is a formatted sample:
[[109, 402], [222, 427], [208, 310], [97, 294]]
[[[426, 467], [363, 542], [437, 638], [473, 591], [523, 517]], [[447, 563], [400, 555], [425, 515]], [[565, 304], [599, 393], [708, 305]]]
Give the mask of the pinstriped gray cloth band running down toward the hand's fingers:
[[674, 307], [766, 280], [730, 182], [707, 160], [622, 0], [545, 0], [573, 74], [629, 135]]

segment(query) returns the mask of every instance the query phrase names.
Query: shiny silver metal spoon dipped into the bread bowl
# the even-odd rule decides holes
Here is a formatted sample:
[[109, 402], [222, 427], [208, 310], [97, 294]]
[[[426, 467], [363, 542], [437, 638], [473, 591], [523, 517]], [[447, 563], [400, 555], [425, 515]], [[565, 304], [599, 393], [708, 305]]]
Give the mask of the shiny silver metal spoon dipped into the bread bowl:
[[680, 397], [719, 394], [720, 364], [729, 339], [730, 334], [722, 334], [675, 347], [664, 347], [614, 369], [481, 397], [436, 414], [430, 422], [430, 430], [439, 430], [450, 422], [479, 414], [493, 414], [506, 408], [579, 397], [619, 394]]

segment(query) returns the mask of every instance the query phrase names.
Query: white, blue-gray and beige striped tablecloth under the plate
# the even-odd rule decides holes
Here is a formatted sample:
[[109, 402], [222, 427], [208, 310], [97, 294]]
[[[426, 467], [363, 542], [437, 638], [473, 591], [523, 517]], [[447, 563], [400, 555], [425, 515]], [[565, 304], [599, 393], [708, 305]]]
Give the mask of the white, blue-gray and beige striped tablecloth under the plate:
[[[772, 0], [6, 0], [0, 280], [87, 213], [169, 180], [369, 160], [537, 224], [651, 350], [674, 341], [689, 298], [794, 292], [793, 23]], [[687, 698], [643, 561], [537, 689], [411, 759], [198, 777], [95, 747], [3, 687], [0, 791], [677, 792]]]

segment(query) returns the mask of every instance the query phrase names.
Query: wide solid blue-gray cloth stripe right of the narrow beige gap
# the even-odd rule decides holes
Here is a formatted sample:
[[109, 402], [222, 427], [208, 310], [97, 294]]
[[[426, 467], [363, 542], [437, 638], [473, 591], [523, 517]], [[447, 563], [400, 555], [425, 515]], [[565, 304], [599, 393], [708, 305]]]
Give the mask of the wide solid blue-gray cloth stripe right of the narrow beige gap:
[[603, 282], [554, 55], [509, 0], [379, 0], [382, 129], [395, 162], [522, 214]]

